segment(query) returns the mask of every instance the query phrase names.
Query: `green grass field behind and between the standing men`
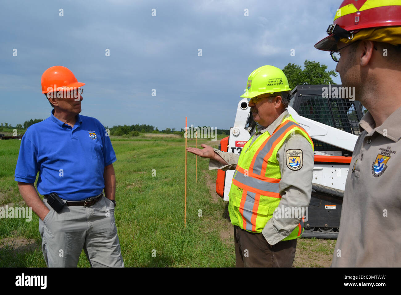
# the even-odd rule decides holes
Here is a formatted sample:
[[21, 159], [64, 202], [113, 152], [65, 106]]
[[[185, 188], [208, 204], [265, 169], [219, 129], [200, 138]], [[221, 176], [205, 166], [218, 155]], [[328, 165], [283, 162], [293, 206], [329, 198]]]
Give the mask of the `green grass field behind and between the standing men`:
[[[217, 147], [217, 142], [208, 142]], [[115, 219], [126, 267], [234, 267], [227, 205], [214, 190], [217, 171], [188, 153], [187, 218], [184, 227], [184, 138], [112, 137], [117, 155]], [[207, 139], [199, 139], [198, 146]], [[188, 139], [194, 146], [195, 140]], [[0, 206], [25, 207], [14, 181], [20, 140], [0, 141]], [[156, 169], [156, 171], [152, 171]], [[156, 176], [152, 176], [156, 172]], [[201, 211], [200, 211], [201, 210]], [[201, 212], [202, 216], [199, 212]], [[0, 267], [45, 267], [38, 217], [0, 220]], [[296, 267], [330, 265], [335, 241], [299, 239]], [[152, 256], [156, 250], [156, 256]], [[79, 267], [89, 267], [83, 252]]]

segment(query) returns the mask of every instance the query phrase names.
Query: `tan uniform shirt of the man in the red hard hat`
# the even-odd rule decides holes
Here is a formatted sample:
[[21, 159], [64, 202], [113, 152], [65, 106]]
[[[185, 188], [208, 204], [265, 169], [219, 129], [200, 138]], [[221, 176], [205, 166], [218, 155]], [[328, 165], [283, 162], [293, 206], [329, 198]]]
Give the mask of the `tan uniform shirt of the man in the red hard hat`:
[[332, 267], [401, 267], [401, 108], [359, 123]]

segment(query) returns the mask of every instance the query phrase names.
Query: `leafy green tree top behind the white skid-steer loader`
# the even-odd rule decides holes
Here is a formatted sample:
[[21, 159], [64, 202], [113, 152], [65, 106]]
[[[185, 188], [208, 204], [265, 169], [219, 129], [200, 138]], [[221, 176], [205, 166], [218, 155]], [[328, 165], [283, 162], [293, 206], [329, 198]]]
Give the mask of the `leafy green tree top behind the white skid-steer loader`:
[[326, 71], [327, 65], [321, 65], [316, 61], [304, 62], [304, 70], [300, 65], [289, 63], [283, 69], [284, 74], [288, 79], [290, 88], [294, 89], [296, 85], [320, 85], [333, 84], [333, 77], [337, 77], [334, 70]]

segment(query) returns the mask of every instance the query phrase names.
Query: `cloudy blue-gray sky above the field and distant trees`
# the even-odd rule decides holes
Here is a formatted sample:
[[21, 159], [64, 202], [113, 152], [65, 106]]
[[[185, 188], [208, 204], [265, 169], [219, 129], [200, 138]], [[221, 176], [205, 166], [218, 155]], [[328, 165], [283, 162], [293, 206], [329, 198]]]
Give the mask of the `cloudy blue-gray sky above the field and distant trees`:
[[81, 114], [105, 126], [180, 130], [188, 116], [229, 129], [254, 69], [305, 59], [335, 69], [314, 44], [341, 2], [2, 0], [0, 122], [47, 118], [41, 75], [63, 65], [86, 83]]

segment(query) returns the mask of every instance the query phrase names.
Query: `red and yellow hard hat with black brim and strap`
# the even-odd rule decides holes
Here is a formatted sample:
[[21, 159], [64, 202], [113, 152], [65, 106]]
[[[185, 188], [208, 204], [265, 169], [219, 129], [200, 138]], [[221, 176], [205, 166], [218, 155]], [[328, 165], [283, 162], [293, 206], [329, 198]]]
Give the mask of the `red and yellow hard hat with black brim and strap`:
[[[336, 51], [338, 41], [348, 43], [360, 39], [401, 44], [399, 26], [401, 0], [344, 0], [327, 29], [329, 36], [316, 43], [315, 47]], [[375, 28], [381, 30], [375, 31]], [[355, 38], [359, 32], [362, 34]]]

